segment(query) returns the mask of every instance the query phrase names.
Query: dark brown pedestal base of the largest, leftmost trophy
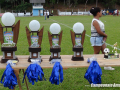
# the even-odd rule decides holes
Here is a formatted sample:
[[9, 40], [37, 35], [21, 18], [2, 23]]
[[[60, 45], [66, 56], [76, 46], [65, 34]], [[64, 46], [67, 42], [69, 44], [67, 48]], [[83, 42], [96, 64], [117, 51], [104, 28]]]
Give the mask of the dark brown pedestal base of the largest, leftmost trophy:
[[1, 47], [1, 51], [3, 52], [3, 57], [1, 59], [1, 63], [6, 63], [8, 60], [18, 60], [15, 56], [15, 51], [17, 51], [17, 47]]

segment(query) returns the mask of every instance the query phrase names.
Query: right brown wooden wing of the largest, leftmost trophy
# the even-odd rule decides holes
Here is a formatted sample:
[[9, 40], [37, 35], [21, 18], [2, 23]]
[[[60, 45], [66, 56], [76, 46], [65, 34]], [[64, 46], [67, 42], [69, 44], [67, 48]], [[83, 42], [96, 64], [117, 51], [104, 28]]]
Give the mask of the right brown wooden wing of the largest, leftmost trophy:
[[13, 28], [13, 42], [17, 44], [18, 35], [20, 29], [20, 20], [16, 23], [15, 27]]

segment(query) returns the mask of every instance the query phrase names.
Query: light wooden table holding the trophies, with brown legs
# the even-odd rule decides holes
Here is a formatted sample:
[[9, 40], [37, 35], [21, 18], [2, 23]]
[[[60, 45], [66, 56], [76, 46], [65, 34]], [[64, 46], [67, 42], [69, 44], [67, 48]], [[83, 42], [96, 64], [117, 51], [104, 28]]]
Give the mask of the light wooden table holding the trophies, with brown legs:
[[[16, 55], [16, 56], [18, 57], [19, 62], [17, 63], [16, 66], [12, 68], [14, 69], [15, 74], [17, 76], [19, 88], [20, 90], [22, 90], [21, 82], [19, 78], [19, 71], [22, 70], [24, 74], [24, 69], [26, 69], [31, 63], [28, 62], [29, 55]], [[84, 61], [72, 61], [71, 60], [72, 55], [61, 55], [61, 59], [62, 59], [61, 65], [63, 69], [89, 67], [90, 64], [87, 63], [87, 58], [90, 58], [92, 56], [93, 55], [83, 55]], [[42, 68], [53, 68], [54, 64], [49, 63], [50, 55], [41, 55], [41, 57], [43, 61], [41, 62], [40, 66]], [[103, 54], [96, 55], [97, 62], [99, 63], [101, 67], [120, 66], [120, 59], [104, 59], [103, 57], [104, 57]], [[2, 58], [2, 56], [0, 56], [0, 58]], [[0, 69], [5, 69], [5, 68], [6, 68], [6, 63], [4, 64], [0, 63]], [[26, 83], [27, 90], [29, 90], [26, 79], [25, 79], [25, 83]]]

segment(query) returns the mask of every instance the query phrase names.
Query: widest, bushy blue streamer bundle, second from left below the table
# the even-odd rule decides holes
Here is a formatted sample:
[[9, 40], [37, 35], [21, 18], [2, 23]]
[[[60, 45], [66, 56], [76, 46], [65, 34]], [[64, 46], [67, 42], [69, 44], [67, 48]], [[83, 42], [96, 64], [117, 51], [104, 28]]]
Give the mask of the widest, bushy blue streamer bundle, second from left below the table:
[[32, 83], [32, 85], [34, 85], [34, 81], [38, 82], [38, 80], [39, 81], [42, 81], [43, 79], [46, 80], [44, 78], [43, 69], [38, 64], [30, 64], [28, 66], [28, 68], [26, 69], [24, 73], [23, 83], [24, 83], [26, 74], [27, 74], [29, 82]]

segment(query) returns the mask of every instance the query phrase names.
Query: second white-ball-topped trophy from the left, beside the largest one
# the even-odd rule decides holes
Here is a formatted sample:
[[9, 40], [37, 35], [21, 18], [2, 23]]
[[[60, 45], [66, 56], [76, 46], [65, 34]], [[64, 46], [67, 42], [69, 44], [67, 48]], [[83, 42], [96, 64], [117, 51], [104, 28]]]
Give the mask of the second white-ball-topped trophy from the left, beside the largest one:
[[31, 62], [32, 60], [39, 60], [41, 62], [42, 59], [40, 56], [40, 51], [44, 26], [39, 31], [40, 23], [37, 20], [32, 20], [29, 23], [29, 28], [31, 29], [31, 31], [29, 31], [29, 29], [26, 26], [26, 34], [30, 52], [28, 62]]

